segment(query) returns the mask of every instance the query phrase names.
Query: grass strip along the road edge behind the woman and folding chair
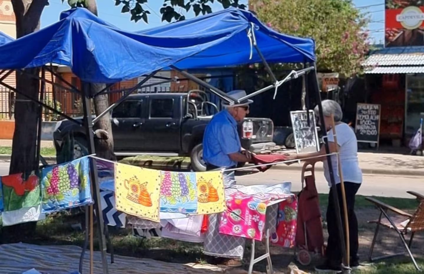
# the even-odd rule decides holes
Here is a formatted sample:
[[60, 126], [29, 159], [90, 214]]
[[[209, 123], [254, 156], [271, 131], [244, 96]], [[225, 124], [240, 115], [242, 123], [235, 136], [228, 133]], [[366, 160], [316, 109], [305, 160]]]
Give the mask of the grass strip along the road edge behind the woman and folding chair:
[[[319, 202], [321, 207], [326, 207], [328, 205], [328, 194], [318, 194]], [[374, 205], [371, 202], [365, 200], [367, 196], [356, 195], [355, 199], [355, 209], [359, 208], [373, 208]], [[395, 208], [403, 210], [414, 210], [418, 207], [417, 199], [407, 199], [407, 198], [394, 198], [394, 197], [377, 197], [371, 196], [385, 204], [391, 205]]]

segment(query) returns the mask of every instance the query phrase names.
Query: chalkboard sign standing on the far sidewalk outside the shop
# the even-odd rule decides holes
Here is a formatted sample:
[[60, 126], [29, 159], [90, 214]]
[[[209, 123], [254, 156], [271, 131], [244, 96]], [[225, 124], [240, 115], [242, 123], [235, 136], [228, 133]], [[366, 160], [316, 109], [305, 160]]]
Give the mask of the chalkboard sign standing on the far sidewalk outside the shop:
[[380, 105], [358, 103], [356, 108], [355, 133], [358, 142], [379, 143]]

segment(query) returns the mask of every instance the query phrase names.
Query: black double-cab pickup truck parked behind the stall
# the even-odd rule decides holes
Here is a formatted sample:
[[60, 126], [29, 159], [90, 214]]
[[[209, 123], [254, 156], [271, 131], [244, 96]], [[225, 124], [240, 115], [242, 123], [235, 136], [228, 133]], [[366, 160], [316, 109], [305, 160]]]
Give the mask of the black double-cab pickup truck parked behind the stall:
[[[216, 112], [218, 107], [200, 90], [130, 95], [112, 111], [115, 154], [190, 156], [192, 169], [204, 171], [202, 139]], [[68, 120], [58, 122], [53, 132], [56, 151], [60, 153], [63, 136], [69, 131], [75, 138], [75, 156], [81, 157], [87, 145], [84, 128]], [[242, 147], [252, 152], [275, 147], [271, 119], [246, 118], [239, 124], [239, 133]]]

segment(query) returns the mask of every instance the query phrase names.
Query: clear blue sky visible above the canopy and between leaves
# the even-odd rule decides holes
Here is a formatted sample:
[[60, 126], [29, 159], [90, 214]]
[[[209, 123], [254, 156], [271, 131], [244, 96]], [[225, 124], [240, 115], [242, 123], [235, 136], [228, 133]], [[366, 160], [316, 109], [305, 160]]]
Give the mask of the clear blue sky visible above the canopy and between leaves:
[[[45, 27], [56, 22], [59, 19], [61, 11], [67, 10], [69, 6], [67, 1], [64, 4], [61, 0], [49, 0], [50, 6], [47, 6], [41, 17], [41, 26]], [[247, 4], [248, 0], [241, 0], [241, 3]], [[384, 0], [354, 0], [355, 6], [368, 8], [360, 8], [361, 12], [368, 13], [371, 17], [369, 25], [370, 35], [374, 43], [381, 43], [384, 39]], [[142, 30], [145, 28], [152, 28], [158, 25], [166, 24], [161, 22], [159, 9], [162, 7], [163, 0], [149, 0], [146, 8], [151, 10], [149, 16], [149, 24], [142, 20], [137, 23], [130, 21], [130, 14], [121, 14], [122, 6], [114, 6], [114, 0], [98, 0], [99, 16], [107, 22], [124, 30]], [[375, 6], [374, 6], [375, 5]], [[212, 10], [217, 11], [222, 8], [220, 4], [215, 3], [212, 5]], [[194, 16], [189, 14], [187, 17]]]

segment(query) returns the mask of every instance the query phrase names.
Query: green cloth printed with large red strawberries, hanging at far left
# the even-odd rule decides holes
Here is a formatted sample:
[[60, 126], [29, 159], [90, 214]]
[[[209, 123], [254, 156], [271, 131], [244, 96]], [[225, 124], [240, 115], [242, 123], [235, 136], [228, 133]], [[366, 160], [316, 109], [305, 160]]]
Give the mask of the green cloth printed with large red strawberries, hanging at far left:
[[4, 211], [13, 211], [40, 205], [41, 188], [35, 172], [32, 172], [27, 178], [24, 178], [23, 174], [19, 173], [2, 176], [0, 180], [3, 188], [0, 211], [1, 209]]

